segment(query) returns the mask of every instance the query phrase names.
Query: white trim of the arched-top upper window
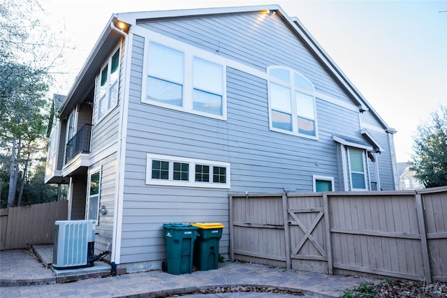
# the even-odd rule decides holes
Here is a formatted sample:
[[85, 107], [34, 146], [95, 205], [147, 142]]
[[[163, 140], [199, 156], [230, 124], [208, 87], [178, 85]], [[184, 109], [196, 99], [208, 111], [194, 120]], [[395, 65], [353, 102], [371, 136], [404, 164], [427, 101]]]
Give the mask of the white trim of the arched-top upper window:
[[[295, 87], [295, 82], [293, 80], [291, 80], [288, 84], [286, 84], [284, 81], [279, 80], [275, 77], [272, 77], [269, 75], [270, 70], [272, 69], [284, 69], [284, 70], [288, 70], [291, 74], [291, 76], [296, 73], [297, 75], [300, 75], [300, 77], [302, 77], [304, 80], [306, 80], [307, 82], [309, 82], [309, 84], [312, 86], [312, 91], [309, 92], [308, 89], [302, 89], [300, 87]], [[307, 77], [305, 77], [305, 75], [302, 75], [302, 73], [294, 70], [293, 68], [288, 68], [285, 66], [269, 66], [267, 68], [267, 73], [268, 73], [268, 121], [269, 121], [269, 128], [270, 131], [276, 131], [277, 133], [286, 133], [288, 135], [298, 135], [300, 137], [305, 137], [307, 139], [312, 139], [312, 140], [318, 140], [318, 122], [317, 122], [317, 118], [316, 118], [316, 95], [315, 95], [315, 87], [314, 84], [312, 84], [311, 81], [309, 81], [309, 79], [307, 79]], [[284, 129], [281, 128], [275, 128], [273, 127], [273, 122], [272, 122], [272, 96], [270, 96], [270, 83], [273, 82], [275, 84], [280, 84], [281, 86], [284, 87], [288, 87], [291, 90], [291, 109], [292, 109], [292, 131], [286, 131]], [[306, 135], [305, 133], [299, 133], [298, 130], [298, 114], [297, 114], [297, 107], [296, 107], [296, 98], [295, 98], [295, 91], [299, 91], [302, 94], [307, 94], [309, 96], [312, 96], [312, 98], [314, 98], [314, 126], [315, 126], [315, 135]]]

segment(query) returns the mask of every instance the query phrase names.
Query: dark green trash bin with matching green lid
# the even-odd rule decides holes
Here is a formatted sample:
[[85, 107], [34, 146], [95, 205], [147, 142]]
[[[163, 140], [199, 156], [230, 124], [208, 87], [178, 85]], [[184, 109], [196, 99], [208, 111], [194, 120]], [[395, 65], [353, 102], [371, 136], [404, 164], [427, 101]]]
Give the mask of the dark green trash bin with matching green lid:
[[182, 223], [163, 225], [163, 237], [166, 240], [166, 260], [161, 263], [163, 271], [170, 274], [192, 273], [197, 230], [197, 227]]

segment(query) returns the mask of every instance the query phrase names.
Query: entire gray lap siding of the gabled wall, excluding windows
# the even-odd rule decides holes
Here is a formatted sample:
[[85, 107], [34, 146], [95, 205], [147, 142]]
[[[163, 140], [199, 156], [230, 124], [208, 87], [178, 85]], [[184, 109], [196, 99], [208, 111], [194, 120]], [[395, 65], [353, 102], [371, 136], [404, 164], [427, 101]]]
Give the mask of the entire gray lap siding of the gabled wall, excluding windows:
[[[140, 24], [247, 66], [289, 66], [317, 91], [353, 103], [278, 17], [230, 15]], [[269, 36], [268, 44], [265, 36]], [[163, 223], [221, 222], [228, 227], [228, 193], [312, 191], [312, 175], [339, 177], [333, 135], [365, 142], [358, 112], [316, 98], [318, 140], [269, 130], [267, 82], [227, 67], [227, 121], [141, 103], [145, 38], [133, 35], [122, 218], [122, 264], [165, 257]], [[385, 144], [383, 144], [385, 145]], [[147, 154], [229, 162], [230, 190], [145, 184]], [[228, 253], [228, 228], [221, 253]]]

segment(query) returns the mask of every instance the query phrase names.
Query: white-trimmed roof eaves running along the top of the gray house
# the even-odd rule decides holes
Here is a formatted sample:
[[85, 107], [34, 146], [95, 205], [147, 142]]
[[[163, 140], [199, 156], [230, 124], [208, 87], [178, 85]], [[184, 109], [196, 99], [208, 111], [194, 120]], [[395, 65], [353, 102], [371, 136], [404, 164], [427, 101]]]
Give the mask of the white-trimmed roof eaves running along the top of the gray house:
[[[379, 121], [379, 123], [390, 133], [395, 133], [393, 128], [389, 126], [379, 117], [369, 105], [367, 100], [360, 94], [360, 91], [354, 87], [351, 81], [348, 80], [346, 75], [338, 68], [329, 55], [323, 50], [323, 48], [318, 45], [316, 40], [311, 36], [311, 34], [305, 29], [301, 22], [296, 17], [288, 17], [284, 10], [278, 5], [269, 6], [243, 6], [243, 7], [228, 7], [228, 8], [200, 8], [200, 9], [187, 9], [187, 10], [164, 10], [164, 11], [147, 11], [147, 12], [136, 12], [136, 13], [118, 13], [112, 15], [107, 25], [103, 29], [101, 36], [98, 38], [93, 50], [89, 54], [87, 61], [85, 61], [84, 66], [80, 70], [78, 77], [76, 77], [73, 87], [67, 94], [67, 100], [59, 109], [61, 114], [68, 114], [73, 110], [75, 102], [80, 99], [81, 96], [85, 96], [85, 88], [78, 88], [79, 86], [88, 86], [94, 84], [94, 78], [98, 73], [98, 69], [101, 68], [103, 61], [112, 51], [112, 48], [116, 45], [122, 34], [114, 29], [114, 24], [117, 20], [121, 20], [131, 26], [137, 24], [138, 20], [166, 20], [170, 18], [178, 17], [209, 17], [212, 15], [222, 15], [222, 14], [241, 14], [241, 13], [254, 13], [262, 12], [264, 10], [274, 11], [283, 22], [285, 22], [288, 27], [295, 33], [297, 38], [304, 42], [309, 51], [312, 52], [316, 58], [321, 61], [321, 64], [332, 73], [339, 84], [344, 87], [344, 89], [351, 94], [353, 100], [358, 103], [358, 108], [360, 112], [369, 110], [372, 112], [374, 117]], [[374, 141], [373, 141], [374, 142]], [[380, 149], [379, 149], [380, 151]]]

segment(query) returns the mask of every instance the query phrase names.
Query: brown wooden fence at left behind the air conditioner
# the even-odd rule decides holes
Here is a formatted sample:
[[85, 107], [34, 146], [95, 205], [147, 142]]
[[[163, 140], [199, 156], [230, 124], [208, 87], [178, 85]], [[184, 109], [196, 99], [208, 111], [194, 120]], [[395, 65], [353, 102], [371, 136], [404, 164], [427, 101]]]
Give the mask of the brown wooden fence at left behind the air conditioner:
[[0, 209], [1, 250], [52, 244], [54, 221], [66, 220], [68, 201]]

